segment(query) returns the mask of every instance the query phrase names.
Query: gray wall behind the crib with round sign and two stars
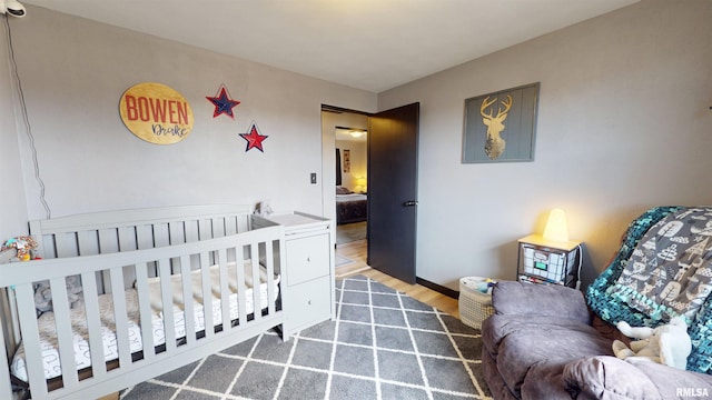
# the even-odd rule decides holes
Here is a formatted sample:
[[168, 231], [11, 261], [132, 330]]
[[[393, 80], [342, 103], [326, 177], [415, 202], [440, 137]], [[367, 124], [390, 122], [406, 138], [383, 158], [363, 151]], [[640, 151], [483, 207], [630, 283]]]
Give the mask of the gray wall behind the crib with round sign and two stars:
[[[11, 19], [10, 26], [52, 217], [265, 199], [276, 210], [320, 214], [322, 103], [364, 110], [376, 104], [372, 92], [42, 8], [30, 7], [27, 18]], [[6, 74], [3, 67], [3, 87]], [[139, 82], [168, 84], [189, 101], [195, 127], [187, 139], [158, 146], [123, 127], [119, 99]], [[235, 120], [212, 118], [206, 97], [221, 84], [241, 101]], [[7, 103], [2, 93], [0, 103]], [[268, 136], [264, 153], [246, 152], [238, 136], [253, 121]], [[44, 218], [29, 143], [2, 123], [11, 144], [1, 150], [4, 170], [23, 177], [27, 187], [28, 211], [20, 219]], [[4, 152], [21, 156], [21, 172]], [[310, 172], [318, 173], [319, 184], [309, 183]], [[23, 203], [22, 196], [19, 188], [14, 201]], [[0, 214], [13, 218], [11, 212], [3, 207]]]

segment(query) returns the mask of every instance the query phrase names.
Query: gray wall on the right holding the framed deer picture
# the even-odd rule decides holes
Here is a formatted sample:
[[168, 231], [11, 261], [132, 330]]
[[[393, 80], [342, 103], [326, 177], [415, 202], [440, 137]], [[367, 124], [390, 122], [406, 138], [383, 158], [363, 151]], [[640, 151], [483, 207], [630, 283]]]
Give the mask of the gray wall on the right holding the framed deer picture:
[[[418, 277], [513, 279], [516, 240], [560, 207], [591, 279], [646, 208], [711, 203], [710, 21], [709, 0], [644, 0], [379, 93], [421, 102]], [[535, 160], [461, 163], [464, 100], [532, 82]]]

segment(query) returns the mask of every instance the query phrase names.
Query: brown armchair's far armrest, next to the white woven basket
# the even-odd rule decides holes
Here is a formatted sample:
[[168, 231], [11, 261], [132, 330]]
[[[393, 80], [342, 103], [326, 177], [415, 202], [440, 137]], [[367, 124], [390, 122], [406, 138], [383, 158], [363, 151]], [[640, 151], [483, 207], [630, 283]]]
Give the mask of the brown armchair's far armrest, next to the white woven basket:
[[492, 306], [498, 314], [558, 317], [591, 323], [583, 293], [558, 284], [500, 281], [492, 290]]

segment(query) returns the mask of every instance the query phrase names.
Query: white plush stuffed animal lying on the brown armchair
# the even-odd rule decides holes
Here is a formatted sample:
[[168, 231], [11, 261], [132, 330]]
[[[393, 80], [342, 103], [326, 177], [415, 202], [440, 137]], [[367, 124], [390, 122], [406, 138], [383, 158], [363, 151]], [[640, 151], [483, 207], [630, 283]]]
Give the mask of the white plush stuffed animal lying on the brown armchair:
[[686, 369], [688, 356], [692, 351], [692, 342], [688, 334], [685, 321], [675, 317], [670, 323], [657, 328], [633, 328], [627, 322], [616, 324], [621, 333], [629, 338], [639, 339], [631, 342], [629, 348], [620, 340], [613, 342], [615, 357], [625, 359], [645, 359], [670, 367]]

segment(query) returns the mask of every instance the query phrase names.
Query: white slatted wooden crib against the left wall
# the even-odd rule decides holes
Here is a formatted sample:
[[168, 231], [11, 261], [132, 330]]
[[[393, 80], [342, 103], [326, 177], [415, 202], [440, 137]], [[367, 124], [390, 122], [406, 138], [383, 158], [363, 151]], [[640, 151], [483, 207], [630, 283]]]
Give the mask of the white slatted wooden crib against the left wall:
[[[284, 228], [253, 229], [249, 206], [79, 214], [30, 233], [43, 259], [0, 266], [2, 399], [11, 377], [32, 399], [98, 398], [285, 320]], [[83, 301], [70, 303], [77, 276]], [[44, 281], [52, 309], [38, 318]]]

